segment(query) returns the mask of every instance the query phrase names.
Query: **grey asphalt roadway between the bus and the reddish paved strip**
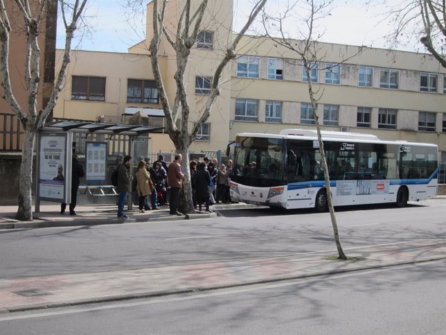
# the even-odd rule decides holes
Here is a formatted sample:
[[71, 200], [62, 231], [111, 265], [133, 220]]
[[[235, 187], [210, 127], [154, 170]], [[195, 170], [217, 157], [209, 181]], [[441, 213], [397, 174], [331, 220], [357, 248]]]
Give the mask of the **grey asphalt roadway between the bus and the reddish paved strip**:
[[[446, 237], [443, 199], [337, 212], [346, 252]], [[100, 272], [336, 249], [328, 214], [271, 209], [217, 218], [0, 231], [0, 278]]]

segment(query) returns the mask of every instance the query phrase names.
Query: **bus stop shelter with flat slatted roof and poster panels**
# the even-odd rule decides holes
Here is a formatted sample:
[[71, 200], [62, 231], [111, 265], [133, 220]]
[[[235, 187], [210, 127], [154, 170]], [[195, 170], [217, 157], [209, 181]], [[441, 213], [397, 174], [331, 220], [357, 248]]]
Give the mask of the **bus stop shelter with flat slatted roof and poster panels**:
[[[73, 134], [81, 134], [85, 141], [85, 181], [103, 183], [107, 180], [107, 159], [109, 158], [108, 141], [116, 135], [124, 135], [127, 148], [123, 153], [134, 154], [134, 139], [162, 130], [162, 127], [150, 127], [134, 124], [102, 123], [90, 121], [54, 121], [46, 123], [37, 137], [37, 173], [35, 212], [40, 211], [40, 201], [70, 203], [71, 201], [71, 164], [76, 148]], [[107, 139], [95, 141], [97, 135]], [[129, 194], [132, 190], [129, 190]], [[132, 207], [131, 196], [128, 206]]]

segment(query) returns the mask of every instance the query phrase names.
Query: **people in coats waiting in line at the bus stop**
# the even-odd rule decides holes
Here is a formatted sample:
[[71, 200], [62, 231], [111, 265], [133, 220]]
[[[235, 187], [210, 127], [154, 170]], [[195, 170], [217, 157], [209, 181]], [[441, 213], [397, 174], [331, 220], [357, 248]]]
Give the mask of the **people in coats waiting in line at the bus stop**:
[[[159, 209], [159, 206], [169, 205], [170, 215], [181, 216], [179, 210], [179, 198], [183, 188], [185, 173], [181, 166], [183, 157], [175, 155], [170, 164], [164, 161], [163, 155], [150, 164], [149, 158], [139, 157], [136, 171], [132, 171], [132, 157], [130, 155], [119, 156], [116, 171], [116, 192], [118, 193], [118, 218], [127, 218], [124, 207], [127, 202], [127, 193], [132, 186], [132, 191], [137, 195], [139, 212], [144, 213], [149, 209]], [[193, 206], [195, 209], [212, 212], [211, 205], [231, 203], [229, 184], [232, 175], [232, 161], [227, 164], [217, 165], [214, 158], [209, 161], [207, 157], [202, 162], [190, 161], [190, 178], [193, 191]], [[63, 176], [63, 171], [58, 171], [58, 176]], [[82, 165], [77, 156], [73, 155], [72, 194], [70, 214], [75, 215], [76, 196], [79, 187], [79, 178], [84, 176]], [[63, 177], [59, 177], [63, 178]], [[63, 179], [62, 179], [63, 180]], [[168, 198], [168, 189], [170, 196]], [[62, 204], [61, 213], [64, 213], [66, 204]]]

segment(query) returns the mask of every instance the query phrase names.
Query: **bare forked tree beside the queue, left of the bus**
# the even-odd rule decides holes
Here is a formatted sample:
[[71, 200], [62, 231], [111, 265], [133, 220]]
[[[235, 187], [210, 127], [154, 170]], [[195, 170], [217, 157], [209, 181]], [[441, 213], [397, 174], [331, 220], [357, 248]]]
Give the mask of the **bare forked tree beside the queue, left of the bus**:
[[[175, 145], [175, 149], [178, 153], [183, 155], [183, 168], [186, 174], [184, 180], [184, 204], [183, 211], [185, 213], [195, 212], [192, 202], [192, 187], [190, 184], [190, 169], [188, 150], [190, 144], [193, 143], [197, 137], [197, 132], [202, 125], [206, 122], [211, 114], [211, 109], [217, 96], [220, 95], [220, 82], [222, 77], [222, 71], [228, 65], [231, 60], [236, 57], [235, 49], [238, 46], [244, 33], [247, 32], [249, 26], [251, 26], [254, 19], [256, 19], [258, 13], [265, 6], [267, 0], [256, 0], [253, 3], [253, 9], [247, 19], [246, 24], [241, 29], [240, 33], [235, 35], [231, 39], [231, 43], [227, 46], [224, 52], [224, 57], [220, 60], [220, 63], [216, 67], [212, 80], [210, 94], [204, 104], [204, 108], [199, 111], [199, 117], [197, 120], [190, 120], [190, 105], [188, 103], [188, 94], [186, 92], [187, 86], [187, 65], [190, 57], [190, 51], [197, 41], [197, 35], [200, 31], [204, 30], [202, 24], [206, 8], [208, 7], [208, 0], [201, 1], [184, 1], [184, 5], [181, 5], [180, 15], [178, 22], [175, 22], [176, 31], [172, 31], [166, 28], [166, 8], [169, 1], [166, 0], [154, 0], [152, 1], [152, 24], [153, 24], [153, 37], [150, 42], [150, 57], [152, 60], [152, 70], [154, 73], [154, 79], [157, 84], [159, 92], [159, 98], [161, 105], [166, 115], [167, 132]], [[172, 1], [170, 1], [172, 2]], [[175, 1], [174, 1], [175, 2]], [[211, 2], [211, 1], [210, 1]], [[217, 3], [216, 1], [212, 1]], [[169, 22], [172, 24], [172, 22]], [[231, 33], [231, 27], [226, 27]], [[161, 40], [166, 39], [172, 49], [175, 52], [177, 68], [174, 78], [163, 78], [161, 76], [161, 70], [159, 65], [159, 51]], [[173, 71], [172, 71], [173, 72]], [[173, 101], [168, 100], [166, 93], [166, 83], [168, 80], [175, 80], [175, 98]], [[180, 119], [181, 127], [177, 126], [177, 119]], [[193, 121], [193, 126], [190, 123]]]

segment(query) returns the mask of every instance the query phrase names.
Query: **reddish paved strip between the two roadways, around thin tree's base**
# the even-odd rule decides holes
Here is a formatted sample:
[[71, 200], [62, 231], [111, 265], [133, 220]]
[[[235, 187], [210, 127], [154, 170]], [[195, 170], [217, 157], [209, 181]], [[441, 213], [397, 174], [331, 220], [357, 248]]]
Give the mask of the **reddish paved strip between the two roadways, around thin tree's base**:
[[[161, 268], [0, 280], [0, 313], [197, 292], [446, 259], [446, 241], [411, 241], [336, 252], [214, 261]], [[1, 316], [0, 316], [1, 318]]]

